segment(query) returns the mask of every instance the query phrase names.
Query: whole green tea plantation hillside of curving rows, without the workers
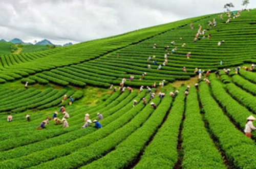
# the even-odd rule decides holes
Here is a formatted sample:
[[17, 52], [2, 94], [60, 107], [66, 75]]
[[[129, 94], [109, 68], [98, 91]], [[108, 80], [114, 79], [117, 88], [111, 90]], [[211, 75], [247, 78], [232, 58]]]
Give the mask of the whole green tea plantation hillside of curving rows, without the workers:
[[[227, 16], [212, 14], [63, 48], [1, 55], [0, 168], [255, 168], [256, 133], [246, 137], [244, 126], [247, 117], [256, 116], [256, 74], [243, 67], [255, 63], [255, 13], [243, 11], [229, 23]], [[217, 26], [210, 27], [214, 18]], [[206, 33], [194, 42], [199, 24]], [[232, 70], [238, 66], [239, 73]], [[195, 68], [212, 73], [197, 80]], [[218, 69], [220, 76], [213, 73]], [[123, 78], [133, 90], [118, 89]], [[156, 88], [145, 88], [155, 82]], [[89, 86], [101, 87], [104, 96], [91, 95]], [[84, 104], [98, 95], [100, 101]], [[62, 105], [69, 127], [50, 120], [46, 129], [36, 130]], [[6, 122], [9, 114], [12, 122]], [[84, 114], [102, 128], [93, 123], [81, 128]]]

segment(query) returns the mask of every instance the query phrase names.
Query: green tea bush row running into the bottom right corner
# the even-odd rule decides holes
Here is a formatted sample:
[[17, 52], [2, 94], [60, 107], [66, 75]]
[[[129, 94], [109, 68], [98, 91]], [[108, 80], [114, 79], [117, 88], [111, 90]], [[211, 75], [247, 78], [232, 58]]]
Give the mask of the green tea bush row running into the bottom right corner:
[[[212, 83], [211, 83], [212, 84]], [[214, 91], [214, 89], [213, 89]], [[210, 96], [208, 87], [200, 83], [200, 100], [204, 107], [205, 119], [209, 123], [210, 131], [216, 136], [221, 149], [235, 168], [253, 168], [256, 160], [254, 156], [255, 143], [237, 130], [229, 119], [223, 115], [221, 108]], [[235, 110], [234, 113], [237, 113]], [[244, 118], [244, 121], [246, 118]], [[238, 153], [239, 152], [239, 153]]]

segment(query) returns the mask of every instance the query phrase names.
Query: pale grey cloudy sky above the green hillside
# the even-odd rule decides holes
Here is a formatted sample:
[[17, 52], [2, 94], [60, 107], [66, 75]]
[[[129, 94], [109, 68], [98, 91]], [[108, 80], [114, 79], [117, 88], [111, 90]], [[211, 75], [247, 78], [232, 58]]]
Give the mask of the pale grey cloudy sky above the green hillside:
[[230, 2], [243, 8], [242, 0], [1, 0], [0, 39], [79, 43], [223, 12]]

